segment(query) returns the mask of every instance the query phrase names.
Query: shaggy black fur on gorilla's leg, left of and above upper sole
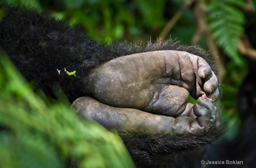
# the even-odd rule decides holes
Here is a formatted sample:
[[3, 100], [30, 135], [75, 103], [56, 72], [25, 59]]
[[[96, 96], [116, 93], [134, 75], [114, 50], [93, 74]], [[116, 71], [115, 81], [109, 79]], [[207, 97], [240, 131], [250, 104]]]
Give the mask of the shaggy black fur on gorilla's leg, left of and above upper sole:
[[[48, 96], [59, 87], [73, 102], [88, 95], [85, 90], [90, 72], [116, 57], [161, 50], [186, 51], [208, 60], [217, 70], [209, 54], [195, 46], [180, 45], [178, 41], [129, 44], [127, 41], [99, 45], [77, 28], [51, 18], [46, 12], [18, 7], [6, 7], [0, 21], [0, 45], [20, 72], [35, 81]], [[0, 6], [1, 7], [1, 6]], [[76, 75], [67, 75], [76, 71]], [[58, 86], [58, 87], [56, 87]]]

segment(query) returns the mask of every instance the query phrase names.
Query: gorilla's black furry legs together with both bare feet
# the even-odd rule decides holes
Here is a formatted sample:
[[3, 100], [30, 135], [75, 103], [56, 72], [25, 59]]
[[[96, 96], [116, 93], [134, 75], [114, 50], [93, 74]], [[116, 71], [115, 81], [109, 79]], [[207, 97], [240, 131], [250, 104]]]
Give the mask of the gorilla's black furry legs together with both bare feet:
[[1, 7], [0, 45], [24, 77], [53, 98], [61, 89], [79, 115], [117, 129], [138, 167], [170, 167], [174, 152], [221, 135], [216, 66], [202, 49], [172, 40], [99, 45], [45, 12]]

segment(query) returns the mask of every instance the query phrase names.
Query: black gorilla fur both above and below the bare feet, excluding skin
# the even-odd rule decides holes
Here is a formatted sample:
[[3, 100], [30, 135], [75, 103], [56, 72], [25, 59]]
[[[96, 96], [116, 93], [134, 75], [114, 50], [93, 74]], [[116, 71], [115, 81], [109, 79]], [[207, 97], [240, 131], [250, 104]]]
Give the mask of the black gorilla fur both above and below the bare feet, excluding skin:
[[[6, 5], [0, 7], [6, 9], [6, 15], [0, 21], [1, 47], [28, 81], [35, 81], [44, 93], [53, 98], [56, 90], [62, 90], [71, 102], [80, 96], [90, 96], [81, 88], [86, 86], [90, 72], [116, 57], [133, 53], [185, 51], [203, 57], [217, 72], [209, 54], [196, 46], [184, 46], [174, 40], [99, 45], [81, 30], [49, 17], [46, 12]], [[69, 76], [64, 71], [57, 71], [64, 68], [71, 72], [76, 70], [76, 75]], [[221, 133], [220, 127], [211, 127], [200, 135], [121, 136], [138, 167], [171, 167], [187, 165], [184, 158], [177, 157], [179, 154], [175, 152], [200, 148], [217, 140]]]

